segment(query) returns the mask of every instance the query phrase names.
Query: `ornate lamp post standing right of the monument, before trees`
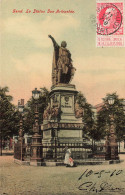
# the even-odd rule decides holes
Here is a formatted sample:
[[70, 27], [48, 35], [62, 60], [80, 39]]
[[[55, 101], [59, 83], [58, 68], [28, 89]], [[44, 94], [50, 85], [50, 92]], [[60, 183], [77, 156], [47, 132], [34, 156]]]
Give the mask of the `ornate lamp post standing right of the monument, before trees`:
[[109, 135], [107, 138], [108, 142], [108, 153], [110, 154], [110, 160], [117, 160], [118, 157], [118, 144], [116, 141], [116, 135], [115, 135], [115, 124], [114, 124], [114, 114], [112, 111], [112, 106], [114, 104], [115, 100], [113, 96], [109, 96], [108, 98], [108, 104], [110, 105], [110, 128], [109, 128]]

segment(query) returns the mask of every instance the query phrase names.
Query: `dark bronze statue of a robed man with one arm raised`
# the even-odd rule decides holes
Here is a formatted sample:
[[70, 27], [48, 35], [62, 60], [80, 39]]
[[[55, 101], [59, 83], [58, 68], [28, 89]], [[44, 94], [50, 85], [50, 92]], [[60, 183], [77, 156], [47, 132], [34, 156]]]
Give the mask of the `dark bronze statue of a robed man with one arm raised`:
[[51, 35], [48, 36], [52, 40], [54, 46], [52, 84], [68, 84], [74, 75], [75, 68], [72, 65], [71, 53], [66, 49], [67, 43], [62, 41], [61, 46], [59, 46]]

